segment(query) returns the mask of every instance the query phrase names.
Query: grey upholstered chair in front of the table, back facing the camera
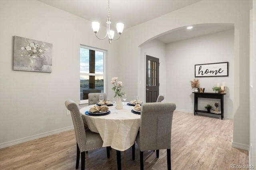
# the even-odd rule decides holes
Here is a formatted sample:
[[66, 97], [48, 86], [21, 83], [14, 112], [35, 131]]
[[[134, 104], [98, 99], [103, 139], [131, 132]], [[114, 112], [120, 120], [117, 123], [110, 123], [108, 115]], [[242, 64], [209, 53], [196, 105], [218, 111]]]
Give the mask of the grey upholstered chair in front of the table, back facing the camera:
[[[142, 104], [140, 131], [136, 137], [140, 148], [140, 170], [144, 169], [143, 151], [158, 150], [158, 158], [159, 149], [167, 149], [167, 168], [171, 170], [172, 115], [175, 109], [176, 104], [172, 102]], [[134, 151], [135, 145], [132, 147]]]

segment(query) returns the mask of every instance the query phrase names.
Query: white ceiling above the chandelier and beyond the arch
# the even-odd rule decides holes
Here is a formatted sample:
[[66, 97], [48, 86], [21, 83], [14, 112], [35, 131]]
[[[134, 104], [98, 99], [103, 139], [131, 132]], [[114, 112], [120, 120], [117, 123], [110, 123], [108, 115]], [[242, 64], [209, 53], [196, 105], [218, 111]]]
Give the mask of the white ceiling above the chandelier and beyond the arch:
[[[89, 21], [98, 21], [106, 27], [107, 0], [38, 0]], [[125, 29], [184, 8], [200, 0], [110, 0], [111, 26], [124, 23]], [[113, 26], [112, 26], [113, 27]], [[157, 39], [171, 43], [192, 37], [234, 29], [230, 25], [194, 25], [193, 29], [180, 28]]]

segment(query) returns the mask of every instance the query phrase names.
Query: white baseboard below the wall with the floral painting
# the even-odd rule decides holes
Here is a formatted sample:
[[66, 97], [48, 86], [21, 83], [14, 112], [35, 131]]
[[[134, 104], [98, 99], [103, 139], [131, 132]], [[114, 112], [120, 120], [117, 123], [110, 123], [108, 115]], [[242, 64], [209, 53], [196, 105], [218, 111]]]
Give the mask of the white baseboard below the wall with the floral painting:
[[61, 132], [64, 132], [64, 131], [69, 131], [69, 130], [72, 130], [72, 129], [74, 129], [74, 126], [64, 127], [62, 129], [57, 129], [57, 130], [54, 130], [54, 131], [49, 131], [49, 132], [41, 133], [41, 134], [38, 134], [38, 135], [33, 135], [33, 136], [30, 136], [30, 137], [24, 137], [24, 138], [21, 138], [21, 139], [16, 139], [14, 141], [0, 143], [0, 149], [10, 147], [12, 145], [17, 145], [17, 144], [20, 144], [20, 143], [24, 143], [24, 142], [27, 142], [27, 141], [32, 141], [34, 139], [39, 139], [39, 138], [42, 138], [42, 137], [54, 135], [54, 134], [61, 133]]

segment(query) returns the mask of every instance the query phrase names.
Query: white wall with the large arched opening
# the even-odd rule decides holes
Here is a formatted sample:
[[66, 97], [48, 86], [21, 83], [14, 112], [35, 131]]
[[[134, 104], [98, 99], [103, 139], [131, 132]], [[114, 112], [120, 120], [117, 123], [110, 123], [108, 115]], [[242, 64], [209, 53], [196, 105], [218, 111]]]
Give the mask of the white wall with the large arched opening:
[[[222, 0], [200, 1], [154, 20], [125, 30], [120, 42], [119, 56], [122, 63], [129, 63], [135, 70], [140, 68], [140, 45], [173, 29], [201, 23], [234, 24], [234, 134], [233, 146], [248, 150], [249, 147], [249, 1]], [[137, 65], [137, 67], [136, 67]], [[137, 68], [137, 70], [136, 70]], [[126, 91], [131, 96], [138, 94], [138, 76], [130, 76], [126, 69], [119, 69], [122, 78], [130, 84]], [[188, 84], [188, 82], [186, 82]], [[166, 86], [167, 90], [168, 86]], [[188, 84], [188, 88], [189, 84]], [[167, 92], [167, 91], [166, 91]], [[140, 96], [143, 97], [143, 96]]]

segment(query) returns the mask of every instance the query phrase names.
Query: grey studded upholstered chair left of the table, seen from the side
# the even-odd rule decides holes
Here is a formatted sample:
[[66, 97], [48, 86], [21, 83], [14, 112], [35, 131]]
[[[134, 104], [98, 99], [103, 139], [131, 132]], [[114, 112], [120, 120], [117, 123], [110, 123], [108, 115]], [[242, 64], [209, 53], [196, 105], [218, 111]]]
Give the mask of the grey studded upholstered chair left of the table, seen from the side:
[[[103, 141], [100, 134], [84, 129], [84, 123], [77, 104], [72, 100], [66, 100], [65, 105], [70, 110], [76, 134], [76, 169], [79, 167], [81, 153], [81, 170], [85, 168], [85, 152], [101, 148]], [[110, 157], [110, 147], [107, 147], [107, 157]]]

